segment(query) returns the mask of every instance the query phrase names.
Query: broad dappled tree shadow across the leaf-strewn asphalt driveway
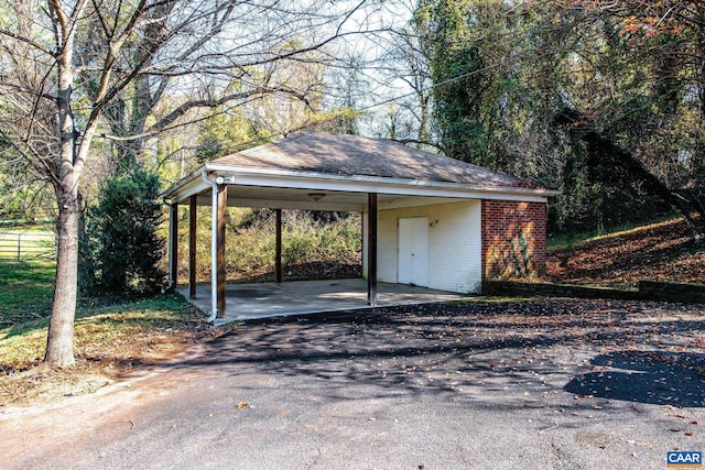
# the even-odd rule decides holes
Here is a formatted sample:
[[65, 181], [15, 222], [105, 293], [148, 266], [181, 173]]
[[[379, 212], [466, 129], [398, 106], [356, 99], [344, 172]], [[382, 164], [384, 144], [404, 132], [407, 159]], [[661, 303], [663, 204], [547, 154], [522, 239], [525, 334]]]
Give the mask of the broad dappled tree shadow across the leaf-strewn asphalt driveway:
[[703, 354], [669, 352], [703, 337], [702, 315], [697, 306], [555, 299], [337, 311], [243, 323], [175, 367], [288, 376], [302, 390], [325, 381], [327, 393], [350, 400], [365, 384], [380, 396], [505, 395], [523, 406], [563, 389], [703, 407]]

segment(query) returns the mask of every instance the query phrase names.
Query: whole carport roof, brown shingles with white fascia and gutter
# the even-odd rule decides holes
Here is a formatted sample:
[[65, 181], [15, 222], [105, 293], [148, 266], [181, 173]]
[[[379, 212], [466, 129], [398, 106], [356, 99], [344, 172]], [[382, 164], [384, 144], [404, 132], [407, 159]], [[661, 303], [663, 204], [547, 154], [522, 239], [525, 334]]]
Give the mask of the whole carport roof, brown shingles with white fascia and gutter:
[[[209, 188], [205, 179], [288, 190], [433, 197], [511, 195], [535, 200], [557, 194], [505, 173], [403, 145], [388, 139], [308, 131], [217, 159], [164, 193], [170, 204]], [[249, 188], [249, 189], [247, 189]], [[267, 189], [269, 188], [269, 189]], [[286, 197], [291, 193], [282, 193]], [[250, 196], [256, 197], [250, 194]]]

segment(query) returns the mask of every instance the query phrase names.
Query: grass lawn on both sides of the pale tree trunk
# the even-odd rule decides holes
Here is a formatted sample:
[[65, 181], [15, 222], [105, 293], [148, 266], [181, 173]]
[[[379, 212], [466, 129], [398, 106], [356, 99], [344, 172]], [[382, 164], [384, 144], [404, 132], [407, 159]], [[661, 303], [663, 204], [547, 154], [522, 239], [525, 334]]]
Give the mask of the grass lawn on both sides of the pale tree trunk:
[[[46, 346], [54, 291], [53, 262], [0, 262], [0, 395], [2, 372], [39, 364]], [[76, 310], [76, 358], [102, 367], [144, 362], [193, 342], [206, 316], [181, 295], [145, 299], [80, 298]]]

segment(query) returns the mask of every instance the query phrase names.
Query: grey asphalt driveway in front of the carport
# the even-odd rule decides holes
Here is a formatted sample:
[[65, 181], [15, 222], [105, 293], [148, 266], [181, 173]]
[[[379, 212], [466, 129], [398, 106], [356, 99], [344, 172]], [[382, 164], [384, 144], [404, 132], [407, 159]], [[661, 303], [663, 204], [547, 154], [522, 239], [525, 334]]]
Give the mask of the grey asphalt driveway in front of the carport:
[[644, 469], [705, 451], [705, 306], [436, 304], [256, 320], [0, 419], [2, 468]]

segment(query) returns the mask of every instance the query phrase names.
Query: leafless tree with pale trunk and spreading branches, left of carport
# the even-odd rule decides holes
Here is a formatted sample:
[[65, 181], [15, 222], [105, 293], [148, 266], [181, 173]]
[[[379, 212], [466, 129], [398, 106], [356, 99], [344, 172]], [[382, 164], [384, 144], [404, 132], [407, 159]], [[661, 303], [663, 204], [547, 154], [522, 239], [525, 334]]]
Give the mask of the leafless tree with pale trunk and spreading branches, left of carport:
[[95, 177], [85, 168], [98, 143], [112, 142], [116, 164], [129, 168], [147, 139], [199, 109], [273, 92], [305, 99], [305, 89], [278, 83], [261, 73], [264, 66], [306, 61], [359, 33], [355, 21], [365, 7], [366, 0], [0, 0], [1, 144], [51, 183], [58, 208], [45, 363], [75, 362], [79, 187]]

